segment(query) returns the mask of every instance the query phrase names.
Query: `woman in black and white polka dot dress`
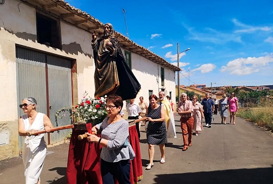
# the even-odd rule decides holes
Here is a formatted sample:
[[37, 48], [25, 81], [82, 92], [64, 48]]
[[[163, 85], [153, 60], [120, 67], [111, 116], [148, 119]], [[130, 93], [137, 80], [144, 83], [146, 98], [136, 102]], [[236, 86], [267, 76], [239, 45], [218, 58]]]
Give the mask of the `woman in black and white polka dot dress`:
[[151, 95], [149, 97], [150, 106], [148, 108], [147, 114], [147, 143], [149, 147], [149, 158], [150, 163], [146, 167], [147, 170], [153, 167], [154, 159], [154, 146], [159, 145], [161, 152], [161, 161], [163, 164], [165, 162], [165, 139], [166, 139], [166, 124], [165, 120], [165, 110], [162, 108], [161, 104], [157, 104], [157, 97]]

